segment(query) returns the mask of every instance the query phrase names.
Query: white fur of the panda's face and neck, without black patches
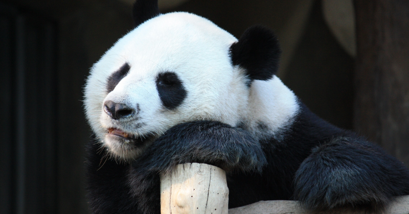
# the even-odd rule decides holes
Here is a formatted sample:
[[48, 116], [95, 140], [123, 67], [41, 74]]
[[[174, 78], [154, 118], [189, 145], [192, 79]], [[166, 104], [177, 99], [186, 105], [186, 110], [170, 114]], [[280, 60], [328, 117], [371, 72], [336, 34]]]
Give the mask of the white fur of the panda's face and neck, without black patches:
[[[232, 126], [244, 120], [250, 128], [263, 121], [271, 133], [283, 127], [298, 111], [295, 96], [277, 77], [255, 81], [248, 90], [243, 70], [231, 64], [229, 48], [235, 41], [211, 21], [183, 12], [160, 15], [129, 32], [93, 66], [85, 86], [86, 116], [100, 142], [129, 159], [142, 151], [107, 139], [108, 128], [159, 136], [178, 123], [201, 119]], [[107, 94], [108, 77], [124, 63], [129, 74]], [[164, 71], [176, 72], [187, 91], [175, 110], [162, 106], [156, 90], [156, 76]], [[139, 105], [140, 114], [113, 120], [103, 111], [106, 100]]]

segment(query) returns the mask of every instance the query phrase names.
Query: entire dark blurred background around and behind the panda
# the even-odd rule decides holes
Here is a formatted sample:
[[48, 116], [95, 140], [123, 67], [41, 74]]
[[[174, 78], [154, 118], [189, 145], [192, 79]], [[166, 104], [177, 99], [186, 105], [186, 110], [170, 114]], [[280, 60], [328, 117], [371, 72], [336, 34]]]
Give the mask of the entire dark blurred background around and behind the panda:
[[[133, 0], [0, 0], [0, 213], [88, 213], [89, 68], [132, 30]], [[409, 1], [162, 0], [240, 37], [275, 30], [278, 76], [327, 121], [409, 166]]]

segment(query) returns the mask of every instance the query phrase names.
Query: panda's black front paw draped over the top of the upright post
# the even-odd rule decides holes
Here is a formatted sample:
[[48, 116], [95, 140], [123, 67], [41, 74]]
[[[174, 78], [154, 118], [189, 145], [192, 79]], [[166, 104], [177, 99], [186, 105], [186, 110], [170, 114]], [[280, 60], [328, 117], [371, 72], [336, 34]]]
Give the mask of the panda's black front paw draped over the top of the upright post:
[[260, 171], [266, 159], [260, 144], [247, 131], [215, 121], [195, 121], [170, 128], [136, 163], [155, 172], [184, 163]]

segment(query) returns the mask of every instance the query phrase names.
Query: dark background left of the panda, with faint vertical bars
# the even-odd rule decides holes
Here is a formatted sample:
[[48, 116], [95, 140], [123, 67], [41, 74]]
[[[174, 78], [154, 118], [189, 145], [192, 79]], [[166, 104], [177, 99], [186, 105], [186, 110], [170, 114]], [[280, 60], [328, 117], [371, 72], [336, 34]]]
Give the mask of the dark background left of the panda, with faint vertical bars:
[[132, 29], [114, 1], [0, 2], [0, 213], [87, 213], [89, 68]]

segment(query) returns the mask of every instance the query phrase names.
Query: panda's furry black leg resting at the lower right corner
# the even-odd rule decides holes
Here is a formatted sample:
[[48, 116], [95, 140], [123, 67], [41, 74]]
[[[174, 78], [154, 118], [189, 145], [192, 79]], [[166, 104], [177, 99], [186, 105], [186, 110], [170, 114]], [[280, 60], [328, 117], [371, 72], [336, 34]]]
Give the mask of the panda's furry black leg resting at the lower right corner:
[[409, 172], [378, 146], [338, 138], [314, 148], [296, 173], [294, 198], [312, 210], [340, 206], [381, 211], [409, 194]]

